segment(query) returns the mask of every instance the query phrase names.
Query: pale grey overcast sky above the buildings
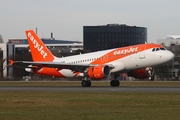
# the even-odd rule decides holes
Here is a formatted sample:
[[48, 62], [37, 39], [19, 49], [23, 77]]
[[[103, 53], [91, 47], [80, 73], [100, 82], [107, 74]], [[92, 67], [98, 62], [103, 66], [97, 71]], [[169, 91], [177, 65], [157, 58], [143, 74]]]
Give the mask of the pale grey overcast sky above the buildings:
[[180, 0], [0, 0], [0, 35], [83, 41], [83, 26], [126, 24], [147, 28], [148, 43], [180, 35]]

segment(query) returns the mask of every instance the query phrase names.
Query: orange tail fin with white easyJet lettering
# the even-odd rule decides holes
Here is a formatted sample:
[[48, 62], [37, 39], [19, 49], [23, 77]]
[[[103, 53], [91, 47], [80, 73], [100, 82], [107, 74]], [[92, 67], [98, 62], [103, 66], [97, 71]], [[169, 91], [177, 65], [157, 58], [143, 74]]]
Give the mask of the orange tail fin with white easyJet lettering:
[[36, 35], [33, 30], [26, 31], [29, 47], [33, 61], [53, 61], [54, 55], [45, 46], [41, 39]]

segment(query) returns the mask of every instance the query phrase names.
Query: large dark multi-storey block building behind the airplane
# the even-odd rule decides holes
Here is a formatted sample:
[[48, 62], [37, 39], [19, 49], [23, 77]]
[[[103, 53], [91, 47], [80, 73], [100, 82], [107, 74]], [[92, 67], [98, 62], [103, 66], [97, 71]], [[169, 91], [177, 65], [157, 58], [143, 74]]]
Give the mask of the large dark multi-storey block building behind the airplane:
[[84, 50], [99, 51], [147, 42], [147, 28], [125, 24], [84, 26]]

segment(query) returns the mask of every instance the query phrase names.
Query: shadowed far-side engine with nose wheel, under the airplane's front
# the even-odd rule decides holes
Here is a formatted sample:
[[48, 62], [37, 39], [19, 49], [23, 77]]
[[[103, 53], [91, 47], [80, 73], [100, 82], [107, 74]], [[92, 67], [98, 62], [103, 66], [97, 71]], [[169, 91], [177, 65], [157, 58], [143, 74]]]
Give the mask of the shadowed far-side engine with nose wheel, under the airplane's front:
[[127, 75], [130, 77], [137, 78], [137, 79], [149, 78], [150, 80], [153, 80], [154, 79], [154, 69], [152, 67], [146, 67], [143, 69], [131, 71]]

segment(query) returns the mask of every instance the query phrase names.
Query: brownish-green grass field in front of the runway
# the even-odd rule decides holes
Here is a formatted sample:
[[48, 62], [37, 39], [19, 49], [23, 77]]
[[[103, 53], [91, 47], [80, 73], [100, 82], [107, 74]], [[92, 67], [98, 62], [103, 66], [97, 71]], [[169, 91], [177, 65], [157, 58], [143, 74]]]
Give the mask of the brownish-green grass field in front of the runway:
[[179, 120], [179, 93], [0, 92], [0, 120]]

